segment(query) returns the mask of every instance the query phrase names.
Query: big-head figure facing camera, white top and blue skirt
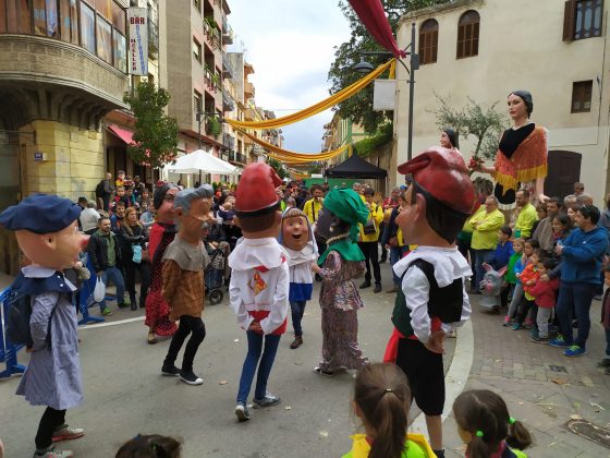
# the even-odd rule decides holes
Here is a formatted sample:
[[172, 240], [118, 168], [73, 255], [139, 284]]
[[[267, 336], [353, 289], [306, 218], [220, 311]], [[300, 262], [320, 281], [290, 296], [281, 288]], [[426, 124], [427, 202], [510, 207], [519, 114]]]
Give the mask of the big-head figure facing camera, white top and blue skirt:
[[298, 208], [289, 208], [282, 214], [282, 229], [280, 243], [285, 248], [290, 260], [290, 309], [292, 312], [292, 327], [294, 340], [290, 348], [303, 345], [303, 327], [301, 322], [305, 313], [305, 305], [312, 299], [314, 278], [312, 263], [318, 258], [318, 249], [309, 219]]

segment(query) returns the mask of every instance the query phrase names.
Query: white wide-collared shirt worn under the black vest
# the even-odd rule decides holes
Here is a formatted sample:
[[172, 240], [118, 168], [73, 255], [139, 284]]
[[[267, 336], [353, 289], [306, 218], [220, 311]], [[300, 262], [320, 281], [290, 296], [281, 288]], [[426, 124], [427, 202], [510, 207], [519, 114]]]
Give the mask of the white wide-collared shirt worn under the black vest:
[[[406, 300], [406, 306], [411, 309], [411, 327], [415, 337], [422, 342], [427, 343], [430, 338], [431, 320], [428, 314], [428, 300], [430, 284], [426, 274], [417, 266], [411, 265], [416, 260], [424, 260], [435, 268], [435, 279], [439, 288], [451, 285], [456, 278], [462, 278], [462, 316], [460, 322], [442, 324], [442, 329], [447, 333], [453, 327], [462, 326], [471, 317], [471, 301], [466, 293], [466, 278], [473, 273], [468, 263], [457, 251], [457, 249], [443, 249], [438, 246], [417, 246], [408, 255], [394, 264], [394, 273], [402, 277], [402, 291]], [[408, 268], [407, 268], [408, 267]]]

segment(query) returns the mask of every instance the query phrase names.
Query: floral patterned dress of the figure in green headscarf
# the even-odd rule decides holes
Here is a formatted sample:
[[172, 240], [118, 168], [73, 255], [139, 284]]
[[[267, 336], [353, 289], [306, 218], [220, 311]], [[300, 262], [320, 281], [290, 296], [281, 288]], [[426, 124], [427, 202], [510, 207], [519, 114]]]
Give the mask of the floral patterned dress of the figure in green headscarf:
[[353, 278], [362, 277], [364, 262], [344, 261], [331, 251], [320, 276], [322, 310], [322, 360], [320, 370], [359, 369], [368, 362], [358, 346], [358, 309], [364, 306]]

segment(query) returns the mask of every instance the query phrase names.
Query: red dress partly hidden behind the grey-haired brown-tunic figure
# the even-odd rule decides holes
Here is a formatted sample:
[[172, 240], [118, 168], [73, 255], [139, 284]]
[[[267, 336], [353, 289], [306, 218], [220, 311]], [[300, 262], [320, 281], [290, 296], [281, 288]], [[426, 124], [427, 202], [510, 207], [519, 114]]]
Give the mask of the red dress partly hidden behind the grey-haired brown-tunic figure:
[[146, 298], [146, 320], [144, 324], [151, 327], [158, 336], [173, 336], [178, 329], [174, 322], [170, 320], [170, 305], [163, 299], [163, 278], [161, 260], [168, 245], [175, 238], [175, 226], [155, 222], [150, 229], [148, 249], [152, 260], [151, 284]]

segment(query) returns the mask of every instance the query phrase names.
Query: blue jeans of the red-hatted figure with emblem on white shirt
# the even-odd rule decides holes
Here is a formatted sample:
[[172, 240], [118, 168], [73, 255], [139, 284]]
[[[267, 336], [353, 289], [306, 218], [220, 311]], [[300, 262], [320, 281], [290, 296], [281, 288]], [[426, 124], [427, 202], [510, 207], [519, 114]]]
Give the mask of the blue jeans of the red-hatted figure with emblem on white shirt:
[[[267, 381], [271, 373], [276, 353], [280, 343], [280, 335], [255, 333], [254, 330], [246, 332], [248, 339], [248, 352], [244, 366], [242, 369], [242, 377], [240, 378], [240, 390], [237, 391], [237, 402], [247, 402], [252, 382], [254, 381], [254, 373], [258, 365], [258, 374], [256, 376], [256, 389], [254, 390], [255, 399], [263, 399], [267, 395]], [[265, 351], [263, 358], [260, 352], [263, 350], [263, 338], [265, 338]], [[259, 363], [260, 360], [260, 363]]]

